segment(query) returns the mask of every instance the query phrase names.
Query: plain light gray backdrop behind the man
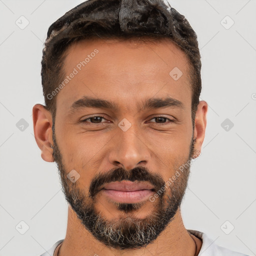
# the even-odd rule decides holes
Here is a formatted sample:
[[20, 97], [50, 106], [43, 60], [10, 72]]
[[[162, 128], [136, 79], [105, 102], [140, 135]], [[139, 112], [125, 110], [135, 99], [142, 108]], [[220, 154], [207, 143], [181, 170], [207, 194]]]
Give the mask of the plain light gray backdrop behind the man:
[[[65, 236], [67, 204], [55, 164], [40, 157], [31, 110], [44, 102], [40, 61], [48, 26], [80, 2], [0, 0], [0, 255], [38, 255]], [[169, 2], [197, 33], [201, 99], [209, 105], [202, 154], [182, 204], [185, 226], [256, 255], [256, 1]]]

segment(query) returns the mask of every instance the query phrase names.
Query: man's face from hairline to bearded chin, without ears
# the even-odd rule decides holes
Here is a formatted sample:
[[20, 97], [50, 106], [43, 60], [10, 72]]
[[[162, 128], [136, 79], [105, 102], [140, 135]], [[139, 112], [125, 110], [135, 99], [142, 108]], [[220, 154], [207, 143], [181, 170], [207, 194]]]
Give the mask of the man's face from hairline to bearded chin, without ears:
[[80, 41], [66, 54], [75, 75], [57, 93], [52, 134], [65, 197], [99, 241], [143, 246], [176, 214], [200, 147], [188, 61], [164, 39]]

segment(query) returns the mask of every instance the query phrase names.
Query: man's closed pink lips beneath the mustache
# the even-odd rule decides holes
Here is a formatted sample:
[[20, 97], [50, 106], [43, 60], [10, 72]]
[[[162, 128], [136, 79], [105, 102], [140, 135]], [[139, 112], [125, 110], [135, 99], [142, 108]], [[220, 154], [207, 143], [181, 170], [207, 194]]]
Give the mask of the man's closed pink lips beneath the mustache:
[[105, 184], [101, 191], [108, 198], [122, 203], [136, 203], [148, 199], [155, 192], [154, 187], [148, 182], [110, 182]]

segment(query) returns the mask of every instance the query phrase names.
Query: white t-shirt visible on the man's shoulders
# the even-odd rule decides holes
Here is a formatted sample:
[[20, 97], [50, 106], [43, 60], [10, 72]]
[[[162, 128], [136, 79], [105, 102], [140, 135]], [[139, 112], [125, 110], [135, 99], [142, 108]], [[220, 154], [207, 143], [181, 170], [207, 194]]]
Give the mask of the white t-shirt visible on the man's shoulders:
[[[188, 231], [202, 240], [202, 246], [201, 246], [198, 256], [248, 256], [248, 255], [218, 246], [217, 244], [215, 244], [213, 242], [212, 239], [210, 239], [203, 232], [196, 231], [196, 230], [190, 230], [190, 229], [188, 229]], [[49, 255], [53, 256], [54, 250], [62, 241], [63, 241], [63, 239], [55, 242], [49, 250], [45, 251], [40, 256], [49, 256]]]

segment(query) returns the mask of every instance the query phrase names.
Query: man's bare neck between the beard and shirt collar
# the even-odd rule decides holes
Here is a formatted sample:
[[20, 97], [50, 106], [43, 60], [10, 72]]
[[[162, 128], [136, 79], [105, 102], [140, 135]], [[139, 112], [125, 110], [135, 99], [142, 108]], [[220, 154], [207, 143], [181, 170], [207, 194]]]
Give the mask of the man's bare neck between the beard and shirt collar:
[[[195, 246], [195, 243], [197, 246]], [[195, 253], [195, 248], [197, 251]], [[136, 249], [114, 249], [99, 242], [80, 223], [75, 212], [68, 207], [68, 220], [66, 236], [59, 247], [58, 256], [72, 255], [104, 255], [104, 256], [152, 256], [152, 255], [173, 255], [173, 256], [194, 256], [197, 255], [201, 247], [201, 240], [190, 235], [183, 225], [180, 209], [176, 212], [173, 220], [146, 247]]]

